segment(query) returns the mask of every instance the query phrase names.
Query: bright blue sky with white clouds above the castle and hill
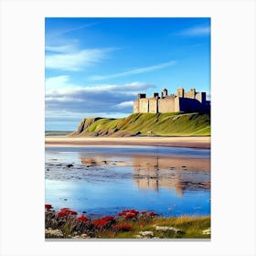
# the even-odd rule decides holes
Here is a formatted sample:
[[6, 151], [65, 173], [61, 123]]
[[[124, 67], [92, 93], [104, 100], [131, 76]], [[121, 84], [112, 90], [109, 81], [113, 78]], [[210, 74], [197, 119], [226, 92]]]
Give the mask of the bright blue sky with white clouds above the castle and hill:
[[210, 95], [210, 18], [51, 18], [46, 28], [46, 130], [133, 112], [138, 92]]

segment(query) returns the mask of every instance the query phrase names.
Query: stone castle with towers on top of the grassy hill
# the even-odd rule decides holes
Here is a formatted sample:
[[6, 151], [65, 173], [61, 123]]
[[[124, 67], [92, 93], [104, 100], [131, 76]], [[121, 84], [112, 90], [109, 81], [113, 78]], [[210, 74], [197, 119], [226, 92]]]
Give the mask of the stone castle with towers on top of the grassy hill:
[[145, 93], [138, 93], [137, 101], [133, 101], [133, 113], [137, 112], [209, 112], [210, 101], [206, 99], [206, 92], [197, 92], [196, 89], [184, 91], [178, 88], [176, 94], [167, 94], [164, 89], [159, 97], [154, 92], [152, 98], [146, 98]]

